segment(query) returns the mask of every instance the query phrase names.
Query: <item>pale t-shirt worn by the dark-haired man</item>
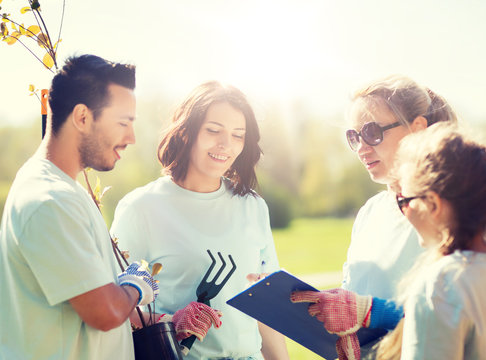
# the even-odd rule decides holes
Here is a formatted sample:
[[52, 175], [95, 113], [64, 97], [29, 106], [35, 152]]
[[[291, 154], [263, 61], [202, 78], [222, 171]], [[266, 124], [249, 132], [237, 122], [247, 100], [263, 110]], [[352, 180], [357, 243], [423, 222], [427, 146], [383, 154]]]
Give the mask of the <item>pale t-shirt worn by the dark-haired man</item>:
[[103, 218], [48, 160], [19, 170], [0, 231], [0, 359], [133, 359], [130, 324], [103, 332], [69, 299], [116, 282]]

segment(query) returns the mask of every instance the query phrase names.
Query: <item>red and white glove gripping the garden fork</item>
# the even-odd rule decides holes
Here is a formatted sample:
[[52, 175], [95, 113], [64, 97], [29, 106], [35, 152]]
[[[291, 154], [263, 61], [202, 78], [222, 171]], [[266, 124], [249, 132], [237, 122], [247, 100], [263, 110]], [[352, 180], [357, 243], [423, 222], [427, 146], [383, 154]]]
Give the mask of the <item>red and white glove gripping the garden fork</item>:
[[162, 315], [157, 322], [172, 321], [177, 341], [181, 341], [191, 335], [195, 335], [199, 341], [202, 341], [211, 325], [214, 325], [215, 328], [221, 326], [221, 320], [219, 319], [221, 316], [223, 316], [221, 311], [215, 310], [206, 304], [192, 301], [185, 308], [177, 310], [172, 316]]

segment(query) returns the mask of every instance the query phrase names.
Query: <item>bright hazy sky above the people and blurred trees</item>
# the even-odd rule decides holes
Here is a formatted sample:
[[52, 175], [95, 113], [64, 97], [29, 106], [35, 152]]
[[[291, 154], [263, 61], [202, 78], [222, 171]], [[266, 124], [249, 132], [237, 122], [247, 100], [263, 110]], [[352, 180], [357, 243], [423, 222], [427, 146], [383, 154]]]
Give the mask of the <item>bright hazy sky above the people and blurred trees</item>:
[[[0, 13], [33, 23], [3, 0]], [[57, 36], [62, 0], [40, 0]], [[94, 53], [137, 65], [139, 99], [181, 100], [221, 80], [258, 108], [341, 114], [365, 81], [408, 75], [486, 122], [486, 2], [481, 0], [66, 0], [59, 60]], [[0, 43], [0, 126], [32, 121], [28, 85], [52, 75], [20, 44]]]

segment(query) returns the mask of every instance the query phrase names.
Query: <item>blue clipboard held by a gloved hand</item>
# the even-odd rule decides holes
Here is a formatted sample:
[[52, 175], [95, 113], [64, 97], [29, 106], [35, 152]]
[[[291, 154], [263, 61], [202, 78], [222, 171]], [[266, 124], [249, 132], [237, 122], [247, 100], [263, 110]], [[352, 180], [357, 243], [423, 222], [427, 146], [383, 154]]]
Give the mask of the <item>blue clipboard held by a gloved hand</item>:
[[[327, 360], [337, 358], [337, 335], [329, 334], [322, 323], [309, 315], [308, 303], [292, 303], [293, 291], [316, 288], [284, 270], [279, 270], [253, 284], [226, 303], [281, 334], [312, 350]], [[360, 329], [358, 339], [363, 346], [383, 336], [386, 330]]]

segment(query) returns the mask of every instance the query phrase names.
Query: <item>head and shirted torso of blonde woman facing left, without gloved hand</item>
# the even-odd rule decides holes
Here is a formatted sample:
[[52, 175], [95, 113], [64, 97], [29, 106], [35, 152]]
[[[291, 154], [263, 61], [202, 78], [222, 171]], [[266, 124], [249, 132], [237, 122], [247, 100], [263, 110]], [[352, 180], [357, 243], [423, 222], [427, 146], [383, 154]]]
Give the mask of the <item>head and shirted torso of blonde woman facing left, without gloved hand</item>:
[[342, 287], [361, 295], [391, 298], [422, 252], [417, 233], [403, 219], [390, 188], [395, 153], [408, 134], [439, 121], [455, 122], [446, 101], [405, 76], [390, 76], [357, 91], [349, 112], [348, 143], [372, 181], [387, 189], [360, 209], [343, 267]]

